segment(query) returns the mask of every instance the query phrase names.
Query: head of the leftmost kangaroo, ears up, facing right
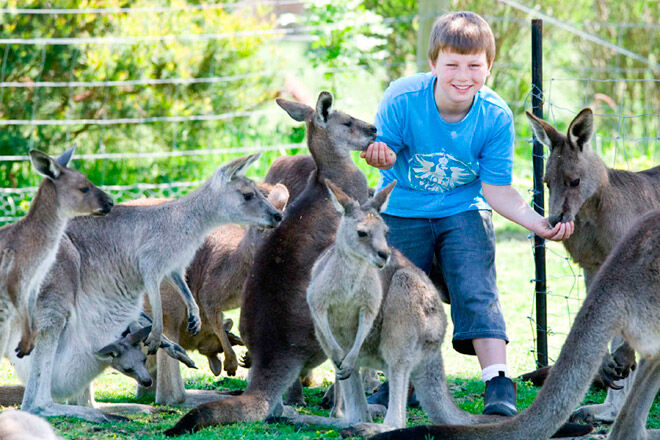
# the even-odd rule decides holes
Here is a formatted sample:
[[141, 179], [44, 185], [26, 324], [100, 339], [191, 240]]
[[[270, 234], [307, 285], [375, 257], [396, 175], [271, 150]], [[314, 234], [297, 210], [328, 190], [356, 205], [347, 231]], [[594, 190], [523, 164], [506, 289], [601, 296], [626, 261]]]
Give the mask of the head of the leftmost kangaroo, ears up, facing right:
[[85, 175], [68, 167], [74, 149], [69, 148], [57, 159], [30, 150], [30, 161], [39, 174], [53, 183], [58, 204], [68, 217], [105, 215], [112, 208], [112, 199]]

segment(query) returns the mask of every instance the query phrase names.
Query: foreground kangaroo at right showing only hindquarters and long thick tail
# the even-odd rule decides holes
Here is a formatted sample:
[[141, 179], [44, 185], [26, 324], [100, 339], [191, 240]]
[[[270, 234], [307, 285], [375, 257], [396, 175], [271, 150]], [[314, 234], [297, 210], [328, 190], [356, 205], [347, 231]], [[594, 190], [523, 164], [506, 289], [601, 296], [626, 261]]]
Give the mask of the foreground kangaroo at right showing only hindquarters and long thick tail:
[[607, 344], [617, 334], [642, 360], [609, 440], [660, 439], [646, 419], [660, 388], [660, 211], [644, 215], [594, 275], [555, 366], [532, 405], [499, 424], [422, 426], [374, 440], [547, 439], [586, 393]]

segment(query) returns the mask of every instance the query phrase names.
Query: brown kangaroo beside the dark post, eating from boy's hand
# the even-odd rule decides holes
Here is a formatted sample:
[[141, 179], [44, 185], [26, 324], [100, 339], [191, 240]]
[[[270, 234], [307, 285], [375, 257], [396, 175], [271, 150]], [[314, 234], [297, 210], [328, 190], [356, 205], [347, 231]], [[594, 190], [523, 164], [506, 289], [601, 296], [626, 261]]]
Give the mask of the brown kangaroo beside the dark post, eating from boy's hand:
[[[608, 168], [590, 146], [593, 113], [578, 113], [566, 135], [527, 113], [536, 138], [550, 148], [544, 180], [550, 189], [550, 221], [575, 221], [575, 232], [563, 241], [573, 260], [584, 271], [587, 292], [591, 280], [622, 237], [644, 213], [660, 208], [660, 167], [639, 172]], [[612, 344], [601, 368], [603, 381], [613, 388], [614, 379], [627, 375], [635, 353], [622, 344]], [[632, 377], [626, 379], [630, 383]], [[574, 420], [612, 422], [621, 409], [627, 388], [608, 390], [604, 404], [578, 410]]]

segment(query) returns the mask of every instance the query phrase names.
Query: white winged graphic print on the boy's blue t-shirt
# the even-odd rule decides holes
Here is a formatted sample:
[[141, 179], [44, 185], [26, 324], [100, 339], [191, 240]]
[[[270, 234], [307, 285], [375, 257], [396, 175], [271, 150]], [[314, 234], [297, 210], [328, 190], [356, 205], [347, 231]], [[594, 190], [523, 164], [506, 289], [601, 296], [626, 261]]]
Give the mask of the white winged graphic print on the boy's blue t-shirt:
[[408, 177], [418, 190], [451, 191], [478, 177], [479, 166], [465, 163], [447, 153], [415, 154], [410, 159]]

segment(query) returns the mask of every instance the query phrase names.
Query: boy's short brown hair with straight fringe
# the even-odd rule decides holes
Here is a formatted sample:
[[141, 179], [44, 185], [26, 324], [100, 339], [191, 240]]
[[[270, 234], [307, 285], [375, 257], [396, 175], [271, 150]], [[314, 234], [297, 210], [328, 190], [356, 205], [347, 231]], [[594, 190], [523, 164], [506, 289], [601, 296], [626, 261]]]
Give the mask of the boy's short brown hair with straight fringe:
[[493, 31], [479, 14], [470, 11], [450, 12], [435, 21], [429, 40], [429, 60], [438, 59], [438, 54], [449, 49], [460, 54], [486, 52], [490, 66], [495, 59], [495, 37]]

